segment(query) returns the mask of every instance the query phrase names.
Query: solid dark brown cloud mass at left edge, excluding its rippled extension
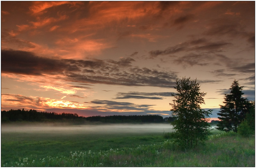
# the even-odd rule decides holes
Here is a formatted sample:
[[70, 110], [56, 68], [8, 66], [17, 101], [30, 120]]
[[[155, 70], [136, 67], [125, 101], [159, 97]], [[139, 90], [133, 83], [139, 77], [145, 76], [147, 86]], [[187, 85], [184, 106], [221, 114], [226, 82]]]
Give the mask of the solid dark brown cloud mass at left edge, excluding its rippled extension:
[[56, 60], [35, 56], [33, 53], [19, 50], [1, 50], [1, 70], [7, 73], [26, 75], [60, 74], [63, 71], [80, 69], [67, 60]]

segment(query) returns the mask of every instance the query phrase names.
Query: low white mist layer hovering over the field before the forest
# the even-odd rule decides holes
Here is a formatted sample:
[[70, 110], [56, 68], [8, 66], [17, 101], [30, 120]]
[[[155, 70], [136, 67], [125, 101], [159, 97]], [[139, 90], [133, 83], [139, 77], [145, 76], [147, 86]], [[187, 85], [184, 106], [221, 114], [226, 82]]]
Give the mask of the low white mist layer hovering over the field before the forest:
[[126, 134], [171, 132], [170, 124], [64, 125], [56, 123], [2, 124], [1, 133]]

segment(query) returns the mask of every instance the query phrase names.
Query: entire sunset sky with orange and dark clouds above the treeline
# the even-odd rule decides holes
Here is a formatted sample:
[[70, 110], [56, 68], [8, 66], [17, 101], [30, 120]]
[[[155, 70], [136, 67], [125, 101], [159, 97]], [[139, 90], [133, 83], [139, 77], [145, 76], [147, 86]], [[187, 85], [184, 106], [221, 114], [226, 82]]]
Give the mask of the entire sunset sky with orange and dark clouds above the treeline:
[[1, 1], [1, 110], [169, 117], [183, 77], [255, 100], [254, 1]]

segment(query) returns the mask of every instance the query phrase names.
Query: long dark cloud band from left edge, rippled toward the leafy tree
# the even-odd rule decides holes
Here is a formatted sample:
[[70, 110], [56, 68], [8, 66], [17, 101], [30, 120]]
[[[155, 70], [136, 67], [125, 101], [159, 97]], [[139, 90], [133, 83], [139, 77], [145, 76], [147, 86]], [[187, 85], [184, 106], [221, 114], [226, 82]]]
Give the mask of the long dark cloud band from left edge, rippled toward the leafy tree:
[[[2, 73], [62, 75], [62, 79], [82, 84], [172, 87], [176, 72], [133, 66], [133, 58], [115, 60], [73, 60], [39, 57], [30, 52], [1, 50]], [[78, 88], [89, 88], [80, 87]]]

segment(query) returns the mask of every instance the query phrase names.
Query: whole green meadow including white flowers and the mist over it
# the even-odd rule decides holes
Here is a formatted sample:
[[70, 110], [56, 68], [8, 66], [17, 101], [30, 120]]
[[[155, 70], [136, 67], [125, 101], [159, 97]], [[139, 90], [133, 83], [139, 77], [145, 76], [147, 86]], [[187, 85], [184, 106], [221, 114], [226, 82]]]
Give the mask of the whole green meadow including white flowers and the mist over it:
[[183, 150], [169, 124], [2, 125], [1, 166], [255, 166], [255, 136], [213, 131]]

